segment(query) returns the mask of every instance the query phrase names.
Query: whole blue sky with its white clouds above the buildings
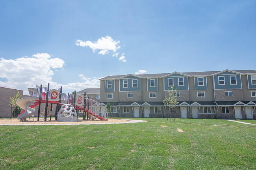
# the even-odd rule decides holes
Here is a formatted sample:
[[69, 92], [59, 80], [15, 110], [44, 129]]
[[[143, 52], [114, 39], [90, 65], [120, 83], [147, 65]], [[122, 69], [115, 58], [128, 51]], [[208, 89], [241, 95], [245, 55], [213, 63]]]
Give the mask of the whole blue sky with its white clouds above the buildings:
[[0, 1], [0, 87], [99, 88], [110, 75], [256, 70], [255, 0]]

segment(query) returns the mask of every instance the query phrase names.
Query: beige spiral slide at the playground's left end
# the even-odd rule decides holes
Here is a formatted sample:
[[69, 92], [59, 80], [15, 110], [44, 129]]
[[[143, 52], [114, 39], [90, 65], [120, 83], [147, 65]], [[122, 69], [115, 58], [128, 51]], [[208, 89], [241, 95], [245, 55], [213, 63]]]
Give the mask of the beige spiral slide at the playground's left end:
[[35, 105], [30, 105], [27, 107], [27, 103], [30, 101], [35, 101], [35, 97], [27, 97], [27, 98], [22, 98], [17, 101], [17, 105], [21, 108], [24, 109], [21, 114], [17, 117], [17, 119], [26, 119], [30, 116], [32, 116], [35, 112], [35, 107], [39, 105], [38, 102], [35, 103]]

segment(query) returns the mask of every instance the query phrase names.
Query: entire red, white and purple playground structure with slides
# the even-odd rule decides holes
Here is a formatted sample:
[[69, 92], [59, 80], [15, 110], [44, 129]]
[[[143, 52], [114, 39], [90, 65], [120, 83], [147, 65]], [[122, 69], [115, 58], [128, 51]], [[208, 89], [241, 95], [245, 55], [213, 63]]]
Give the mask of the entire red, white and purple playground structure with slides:
[[[61, 122], [76, 122], [78, 121], [78, 110], [83, 113], [83, 120], [87, 119], [100, 119], [102, 121], [108, 121], [108, 113], [106, 107], [93, 99], [86, 98], [84, 95], [76, 94], [74, 91], [72, 94], [62, 93], [62, 87], [59, 90], [49, 89], [50, 84], [47, 87], [42, 85], [36, 88], [28, 88], [31, 97], [22, 98], [17, 101], [17, 105], [24, 109], [17, 119], [26, 121], [26, 118], [35, 117], [35, 108], [38, 107], [37, 121], [39, 117], [52, 118], [52, 105], [56, 105], [55, 120]], [[31, 103], [30, 106], [27, 106]], [[45, 111], [40, 113], [41, 103], [45, 103]], [[50, 107], [48, 107], [50, 104]], [[59, 112], [58, 112], [59, 110]], [[46, 114], [45, 114], [46, 113]], [[86, 115], [87, 114], [87, 115]], [[99, 116], [99, 115], [102, 116]]]

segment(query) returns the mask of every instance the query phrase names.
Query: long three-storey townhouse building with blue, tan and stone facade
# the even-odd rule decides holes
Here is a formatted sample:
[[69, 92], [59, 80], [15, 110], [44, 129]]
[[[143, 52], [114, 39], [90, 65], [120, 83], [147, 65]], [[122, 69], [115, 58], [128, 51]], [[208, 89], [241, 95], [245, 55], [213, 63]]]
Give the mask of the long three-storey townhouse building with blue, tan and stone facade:
[[[177, 90], [178, 106], [163, 99]], [[128, 74], [100, 79], [100, 103], [114, 117], [256, 119], [256, 71]]]

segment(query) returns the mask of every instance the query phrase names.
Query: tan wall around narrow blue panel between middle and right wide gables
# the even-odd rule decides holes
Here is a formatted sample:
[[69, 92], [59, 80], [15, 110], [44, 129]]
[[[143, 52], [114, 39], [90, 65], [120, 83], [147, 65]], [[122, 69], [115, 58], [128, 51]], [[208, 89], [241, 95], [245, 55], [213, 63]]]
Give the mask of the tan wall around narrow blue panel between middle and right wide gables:
[[[207, 90], [195, 90], [197, 77], [189, 77], [189, 101], [214, 101], [213, 78], [207, 76], [205, 80], [207, 81]], [[206, 83], [206, 81], [204, 81], [204, 83]], [[205, 92], [205, 97], [198, 98], [197, 92]]]

